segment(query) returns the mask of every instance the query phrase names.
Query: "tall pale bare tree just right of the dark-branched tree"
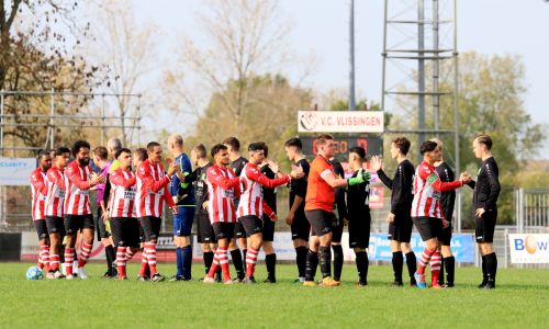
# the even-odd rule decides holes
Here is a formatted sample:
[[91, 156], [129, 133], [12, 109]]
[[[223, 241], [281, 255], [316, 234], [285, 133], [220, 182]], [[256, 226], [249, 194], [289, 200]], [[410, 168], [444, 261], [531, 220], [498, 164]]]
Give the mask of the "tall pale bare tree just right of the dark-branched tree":
[[[98, 24], [92, 26], [93, 42], [88, 50], [105, 68], [109, 79], [99, 90], [114, 93], [112, 105], [120, 117], [120, 134], [126, 145], [126, 116], [136, 116], [138, 100], [135, 97], [143, 78], [150, 72], [154, 58], [154, 35], [157, 27], [135, 20], [132, 2], [128, 0], [102, 0], [96, 8]], [[134, 111], [132, 111], [134, 110]]]

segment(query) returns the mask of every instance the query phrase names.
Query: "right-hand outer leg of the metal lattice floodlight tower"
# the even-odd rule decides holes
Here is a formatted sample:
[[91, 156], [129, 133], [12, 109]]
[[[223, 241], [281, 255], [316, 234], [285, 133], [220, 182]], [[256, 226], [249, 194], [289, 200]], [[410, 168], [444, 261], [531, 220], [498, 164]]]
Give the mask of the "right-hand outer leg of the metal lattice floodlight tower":
[[[459, 149], [459, 71], [458, 71], [458, 7], [457, 0], [453, 0], [453, 148], [456, 158], [456, 173], [461, 171], [460, 163], [460, 149]], [[458, 189], [458, 205], [457, 205], [457, 222], [458, 231], [461, 231], [461, 189]]]

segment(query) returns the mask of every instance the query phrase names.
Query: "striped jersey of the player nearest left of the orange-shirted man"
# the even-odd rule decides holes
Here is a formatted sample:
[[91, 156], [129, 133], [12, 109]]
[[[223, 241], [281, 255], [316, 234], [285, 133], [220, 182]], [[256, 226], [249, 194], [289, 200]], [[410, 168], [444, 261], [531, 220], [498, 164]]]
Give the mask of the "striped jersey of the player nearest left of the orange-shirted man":
[[243, 216], [264, 216], [264, 186], [274, 189], [288, 184], [290, 175], [280, 179], [268, 179], [261, 173], [259, 167], [251, 162], [246, 163], [240, 173], [242, 195], [238, 202], [238, 217]]

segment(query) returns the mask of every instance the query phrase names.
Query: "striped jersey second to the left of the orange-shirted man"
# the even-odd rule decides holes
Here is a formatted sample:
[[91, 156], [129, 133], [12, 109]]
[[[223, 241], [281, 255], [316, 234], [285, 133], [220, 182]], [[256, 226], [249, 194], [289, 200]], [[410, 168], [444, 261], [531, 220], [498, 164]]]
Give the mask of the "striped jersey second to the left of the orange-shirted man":
[[208, 214], [211, 223], [236, 223], [235, 198], [240, 196], [240, 180], [231, 168], [213, 164], [206, 171]]

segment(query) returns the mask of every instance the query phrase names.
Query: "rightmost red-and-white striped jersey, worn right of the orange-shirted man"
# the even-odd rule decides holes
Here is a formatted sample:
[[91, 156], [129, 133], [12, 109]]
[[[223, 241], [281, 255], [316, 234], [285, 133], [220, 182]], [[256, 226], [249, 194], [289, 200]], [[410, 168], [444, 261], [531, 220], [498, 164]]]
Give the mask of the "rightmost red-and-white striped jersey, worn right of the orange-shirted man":
[[423, 161], [417, 166], [414, 177], [414, 201], [412, 217], [444, 218], [440, 206], [441, 192], [462, 186], [461, 181], [442, 182], [434, 166]]

